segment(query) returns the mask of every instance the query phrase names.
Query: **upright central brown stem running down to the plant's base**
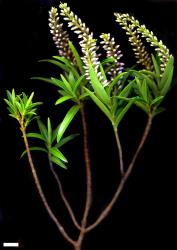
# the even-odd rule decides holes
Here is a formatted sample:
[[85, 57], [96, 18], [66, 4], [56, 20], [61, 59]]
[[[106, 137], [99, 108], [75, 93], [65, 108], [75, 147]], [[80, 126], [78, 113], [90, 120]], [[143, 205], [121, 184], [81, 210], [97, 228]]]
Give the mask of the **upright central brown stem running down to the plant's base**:
[[91, 164], [90, 164], [90, 154], [88, 146], [88, 131], [87, 131], [87, 122], [85, 116], [85, 110], [83, 103], [80, 104], [80, 112], [82, 118], [82, 127], [83, 127], [83, 138], [84, 138], [84, 157], [85, 157], [85, 168], [86, 168], [86, 203], [83, 218], [81, 221], [81, 230], [75, 245], [75, 250], [81, 249], [81, 244], [85, 235], [85, 228], [87, 225], [87, 217], [92, 203], [92, 176], [91, 176]]

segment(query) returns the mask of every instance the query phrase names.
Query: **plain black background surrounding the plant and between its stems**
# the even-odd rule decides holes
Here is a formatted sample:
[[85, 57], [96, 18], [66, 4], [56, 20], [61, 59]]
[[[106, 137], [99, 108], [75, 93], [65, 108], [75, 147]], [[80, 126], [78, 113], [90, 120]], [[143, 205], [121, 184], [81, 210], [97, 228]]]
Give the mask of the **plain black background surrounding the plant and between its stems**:
[[[113, 12], [128, 12], [151, 29], [176, 58], [177, 33], [175, 2], [148, 1], [67, 1], [87, 23], [95, 36], [110, 32], [121, 44], [124, 62], [135, 63], [124, 32], [114, 21]], [[24, 249], [72, 249], [49, 219], [36, 192], [27, 159], [20, 160], [23, 143], [18, 125], [7, 115], [3, 98], [6, 89], [19, 93], [35, 91], [43, 101], [40, 115], [56, 123], [69, 108], [53, 105], [56, 89], [31, 81], [34, 75], [49, 76], [55, 70], [37, 61], [57, 54], [48, 28], [48, 10], [58, 1], [0, 1], [0, 241], [18, 241]], [[77, 41], [76, 37], [73, 39]], [[176, 69], [175, 69], [176, 75]], [[175, 250], [176, 243], [176, 141], [177, 89], [174, 87], [163, 106], [166, 111], [155, 120], [129, 182], [112, 213], [85, 239], [83, 249]], [[87, 106], [90, 151], [94, 181], [94, 202], [90, 221], [104, 208], [119, 180], [118, 159], [110, 124], [98, 109]], [[133, 108], [120, 126], [125, 163], [128, 164], [143, 131], [146, 116]], [[33, 126], [32, 126], [33, 127]], [[70, 132], [81, 132], [79, 117]], [[64, 189], [79, 218], [84, 202], [84, 163], [81, 137], [63, 148], [70, 160], [68, 170], [58, 169]], [[64, 210], [56, 185], [48, 172], [45, 157], [35, 154], [44, 191], [68, 232], [76, 237]]]

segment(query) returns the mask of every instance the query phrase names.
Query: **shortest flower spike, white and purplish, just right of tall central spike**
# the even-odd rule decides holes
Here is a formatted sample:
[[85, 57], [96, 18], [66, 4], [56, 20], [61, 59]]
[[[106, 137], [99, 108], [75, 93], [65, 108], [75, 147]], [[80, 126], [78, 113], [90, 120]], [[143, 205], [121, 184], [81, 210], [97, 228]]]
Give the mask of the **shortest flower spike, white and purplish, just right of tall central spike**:
[[120, 58], [123, 55], [119, 49], [120, 45], [115, 44], [115, 39], [114, 37], [111, 37], [110, 33], [103, 33], [100, 38], [102, 39], [101, 44], [103, 45], [103, 49], [106, 51], [107, 57], [114, 60], [114, 66], [108, 71], [112, 80], [116, 75], [120, 74], [124, 68], [124, 63], [120, 62]]

